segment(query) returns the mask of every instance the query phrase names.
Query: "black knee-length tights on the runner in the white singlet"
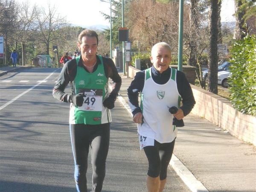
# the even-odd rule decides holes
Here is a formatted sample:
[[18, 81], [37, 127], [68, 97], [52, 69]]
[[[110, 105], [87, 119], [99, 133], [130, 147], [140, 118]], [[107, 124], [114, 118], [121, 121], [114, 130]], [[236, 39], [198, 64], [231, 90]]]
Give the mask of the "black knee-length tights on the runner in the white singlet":
[[148, 158], [148, 176], [158, 177], [160, 180], [166, 179], [167, 168], [172, 158], [175, 140], [171, 143], [158, 143], [154, 141], [154, 146], [144, 147], [145, 154]]

